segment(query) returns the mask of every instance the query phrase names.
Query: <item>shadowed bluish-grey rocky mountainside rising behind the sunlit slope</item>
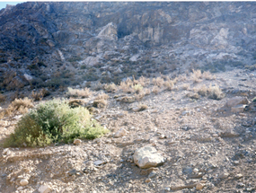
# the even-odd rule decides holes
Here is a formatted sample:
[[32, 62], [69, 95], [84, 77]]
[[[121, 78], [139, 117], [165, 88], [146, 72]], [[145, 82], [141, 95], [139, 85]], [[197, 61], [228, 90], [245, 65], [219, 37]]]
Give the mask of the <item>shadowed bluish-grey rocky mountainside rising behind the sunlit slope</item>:
[[250, 66], [255, 21], [254, 2], [8, 6], [0, 11], [1, 88]]

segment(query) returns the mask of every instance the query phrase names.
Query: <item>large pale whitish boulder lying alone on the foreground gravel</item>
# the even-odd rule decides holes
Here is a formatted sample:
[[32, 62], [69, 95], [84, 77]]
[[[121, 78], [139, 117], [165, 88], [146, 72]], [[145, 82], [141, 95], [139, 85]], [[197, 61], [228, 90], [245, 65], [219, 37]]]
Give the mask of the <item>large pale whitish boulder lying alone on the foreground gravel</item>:
[[162, 154], [158, 153], [153, 146], [137, 149], [133, 159], [137, 166], [143, 169], [162, 165], [165, 161]]

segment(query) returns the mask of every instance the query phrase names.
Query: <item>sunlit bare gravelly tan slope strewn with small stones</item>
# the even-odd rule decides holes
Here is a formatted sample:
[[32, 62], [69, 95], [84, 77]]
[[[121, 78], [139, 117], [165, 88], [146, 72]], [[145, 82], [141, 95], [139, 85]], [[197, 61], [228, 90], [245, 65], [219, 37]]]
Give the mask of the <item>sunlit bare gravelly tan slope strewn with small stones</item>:
[[[1, 147], [0, 192], [39, 192], [41, 185], [50, 192], [255, 192], [256, 112], [221, 110], [234, 96], [246, 96], [252, 102], [255, 80], [255, 72], [233, 69], [200, 83], [188, 76], [172, 91], [159, 88], [132, 103], [117, 100], [127, 93], [108, 93], [107, 107], [94, 114], [110, 129], [108, 135], [83, 140], [80, 145]], [[188, 90], [182, 89], [184, 83], [190, 84]], [[210, 83], [222, 88], [224, 99], [186, 96]], [[152, 89], [153, 85], [146, 87]], [[97, 93], [84, 102], [92, 102]], [[65, 92], [55, 94], [61, 97]], [[135, 111], [139, 104], [148, 109]], [[1, 143], [19, 118], [0, 120]], [[120, 128], [128, 134], [114, 137]], [[146, 145], [163, 154], [166, 162], [162, 166], [140, 169], [133, 162], [137, 148]], [[21, 186], [22, 179], [28, 185]]]

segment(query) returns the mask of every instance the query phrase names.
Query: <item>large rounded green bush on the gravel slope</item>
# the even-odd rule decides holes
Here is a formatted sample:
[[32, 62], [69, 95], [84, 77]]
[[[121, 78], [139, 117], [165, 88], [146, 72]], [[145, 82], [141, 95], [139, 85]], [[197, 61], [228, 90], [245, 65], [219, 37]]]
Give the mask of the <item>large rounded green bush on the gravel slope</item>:
[[17, 123], [4, 146], [46, 146], [72, 142], [75, 138], [93, 139], [107, 133], [83, 107], [71, 109], [65, 101], [48, 101], [31, 110]]

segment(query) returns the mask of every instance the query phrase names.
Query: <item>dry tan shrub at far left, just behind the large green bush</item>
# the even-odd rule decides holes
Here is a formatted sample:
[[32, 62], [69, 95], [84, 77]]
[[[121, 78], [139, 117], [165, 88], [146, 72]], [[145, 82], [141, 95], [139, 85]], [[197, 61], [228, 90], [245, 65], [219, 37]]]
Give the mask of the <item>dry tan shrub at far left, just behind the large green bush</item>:
[[32, 100], [25, 97], [24, 99], [15, 99], [9, 105], [8, 109], [5, 110], [5, 114], [12, 115], [14, 112], [19, 111], [20, 113], [24, 114], [27, 113], [29, 109], [33, 108], [34, 105]]

